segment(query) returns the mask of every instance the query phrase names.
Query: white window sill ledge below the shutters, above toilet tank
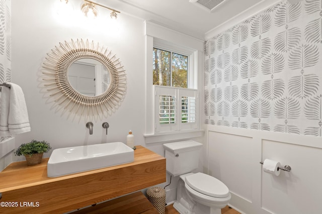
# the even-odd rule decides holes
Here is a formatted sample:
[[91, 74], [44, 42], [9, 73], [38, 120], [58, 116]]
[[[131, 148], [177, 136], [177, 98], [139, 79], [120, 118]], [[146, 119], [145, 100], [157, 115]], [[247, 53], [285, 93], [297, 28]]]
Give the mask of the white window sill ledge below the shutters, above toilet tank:
[[144, 134], [146, 144], [160, 143], [166, 141], [184, 140], [189, 138], [202, 137], [204, 130], [185, 130], [177, 132], [163, 132], [157, 134]]

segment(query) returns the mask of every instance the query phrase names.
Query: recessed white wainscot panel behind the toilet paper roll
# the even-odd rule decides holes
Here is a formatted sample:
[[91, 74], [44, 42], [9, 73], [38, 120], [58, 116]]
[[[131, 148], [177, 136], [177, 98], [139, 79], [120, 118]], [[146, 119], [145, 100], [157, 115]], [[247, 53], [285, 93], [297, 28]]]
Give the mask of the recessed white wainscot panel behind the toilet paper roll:
[[322, 149], [262, 141], [263, 160], [291, 166], [273, 176], [262, 171], [262, 208], [272, 213], [322, 213]]

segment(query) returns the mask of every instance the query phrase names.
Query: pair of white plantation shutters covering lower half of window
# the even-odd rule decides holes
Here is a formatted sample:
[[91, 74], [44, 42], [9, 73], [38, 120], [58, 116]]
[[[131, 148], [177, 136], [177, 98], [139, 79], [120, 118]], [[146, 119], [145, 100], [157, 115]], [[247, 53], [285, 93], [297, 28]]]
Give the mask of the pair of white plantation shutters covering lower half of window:
[[154, 85], [155, 133], [197, 129], [197, 90]]

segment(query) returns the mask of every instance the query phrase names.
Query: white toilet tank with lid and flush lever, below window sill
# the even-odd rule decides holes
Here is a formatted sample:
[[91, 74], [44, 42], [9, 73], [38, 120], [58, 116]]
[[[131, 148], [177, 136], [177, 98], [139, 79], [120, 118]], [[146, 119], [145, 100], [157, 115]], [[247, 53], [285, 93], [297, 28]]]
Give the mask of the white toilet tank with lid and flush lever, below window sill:
[[166, 150], [167, 171], [173, 176], [182, 175], [198, 168], [201, 143], [180, 141], [163, 145]]

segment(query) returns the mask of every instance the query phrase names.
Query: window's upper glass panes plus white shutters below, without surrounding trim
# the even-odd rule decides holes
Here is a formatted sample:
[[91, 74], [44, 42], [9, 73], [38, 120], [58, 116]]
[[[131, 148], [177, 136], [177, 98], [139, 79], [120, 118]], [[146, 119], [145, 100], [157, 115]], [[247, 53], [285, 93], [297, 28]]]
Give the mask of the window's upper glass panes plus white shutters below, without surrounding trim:
[[188, 89], [188, 56], [153, 48], [155, 133], [193, 129], [197, 90]]

